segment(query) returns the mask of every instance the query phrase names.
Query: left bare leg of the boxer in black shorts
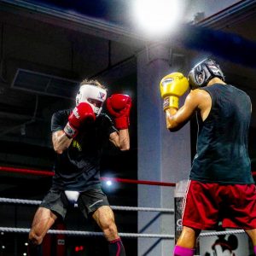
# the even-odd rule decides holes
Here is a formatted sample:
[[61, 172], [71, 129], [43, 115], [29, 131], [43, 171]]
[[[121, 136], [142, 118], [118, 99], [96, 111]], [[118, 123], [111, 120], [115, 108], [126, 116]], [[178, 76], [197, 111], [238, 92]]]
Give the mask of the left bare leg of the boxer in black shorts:
[[55, 223], [57, 216], [49, 209], [39, 207], [32, 221], [32, 228], [28, 235], [28, 255], [37, 255], [38, 245], [44, 239], [49, 228]]

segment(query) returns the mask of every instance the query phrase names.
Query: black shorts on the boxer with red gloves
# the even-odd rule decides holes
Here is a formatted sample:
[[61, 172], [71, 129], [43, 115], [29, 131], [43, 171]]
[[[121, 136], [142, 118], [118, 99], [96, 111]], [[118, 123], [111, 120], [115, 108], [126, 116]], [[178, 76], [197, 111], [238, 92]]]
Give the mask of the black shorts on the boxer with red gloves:
[[[71, 204], [67, 200], [64, 190], [50, 189], [49, 193], [44, 196], [44, 200], [39, 207], [47, 208], [57, 213], [57, 215], [60, 215], [62, 218], [65, 218], [67, 207], [70, 206]], [[108, 198], [102, 192], [102, 189], [89, 189], [80, 193], [78, 207], [85, 218], [88, 218], [91, 213], [102, 206], [109, 206]]]

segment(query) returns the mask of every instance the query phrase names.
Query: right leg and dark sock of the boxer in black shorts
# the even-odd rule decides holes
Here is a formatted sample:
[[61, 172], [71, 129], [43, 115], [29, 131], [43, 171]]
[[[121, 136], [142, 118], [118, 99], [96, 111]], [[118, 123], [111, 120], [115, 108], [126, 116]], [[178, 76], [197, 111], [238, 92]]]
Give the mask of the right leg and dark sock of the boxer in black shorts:
[[109, 255], [125, 256], [125, 247], [118, 235], [112, 209], [108, 206], [100, 207], [93, 213], [92, 217], [96, 220], [109, 242]]

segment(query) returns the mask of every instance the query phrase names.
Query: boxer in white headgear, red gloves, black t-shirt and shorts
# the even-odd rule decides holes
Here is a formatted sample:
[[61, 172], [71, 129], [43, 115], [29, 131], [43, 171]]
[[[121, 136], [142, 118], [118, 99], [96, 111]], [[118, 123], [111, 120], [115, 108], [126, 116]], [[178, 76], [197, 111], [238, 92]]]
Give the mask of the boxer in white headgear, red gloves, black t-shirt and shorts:
[[[85, 218], [91, 216], [108, 241], [109, 256], [125, 256], [113, 210], [101, 189], [102, 150], [109, 142], [120, 151], [129, 150], [129, 113], [131, 98], [114, 95], [109, 109], [116, 119], [102, 113], [107, 88], [97, 80], [84, 79], [76, 96], [76, 108], [60, 109], [51, 118], [52, 143], [56, 153], [55, 175], [51, 189], [38, 207], [29, 233], [28, 252], [37, 256], [47, 230], [59, 217], [65, 218], [67, 201], [77, 203]], [[79, 136], [77, 136], [79, 134]], [[76, 137], [77, 136], [77, 137]]]

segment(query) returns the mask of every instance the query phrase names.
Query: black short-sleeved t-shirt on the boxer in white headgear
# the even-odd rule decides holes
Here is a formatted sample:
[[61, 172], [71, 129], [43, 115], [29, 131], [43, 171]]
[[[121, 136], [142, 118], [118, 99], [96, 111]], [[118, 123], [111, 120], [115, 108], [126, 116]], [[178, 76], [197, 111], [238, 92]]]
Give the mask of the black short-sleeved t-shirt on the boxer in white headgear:
[[[51, 131], [61, 131], [67, 125], [71, 109], [53, 114]], [[116, 131], [107, 114], [101, 113], [95, 122], [87, 122], [62, 154], [56, 154], [53, 189], [84, 191], [100, 185], [102, 148], [109, 135]]]

